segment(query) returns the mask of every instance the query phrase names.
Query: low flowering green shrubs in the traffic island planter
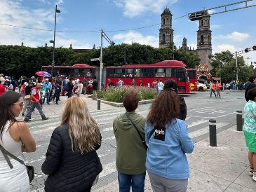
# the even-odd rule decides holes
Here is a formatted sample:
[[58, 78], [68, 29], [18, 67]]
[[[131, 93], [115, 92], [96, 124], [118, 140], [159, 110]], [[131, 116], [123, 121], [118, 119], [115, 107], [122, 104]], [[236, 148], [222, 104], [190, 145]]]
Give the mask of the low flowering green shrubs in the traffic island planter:
[[[107, 90], [97, 90], [97, 97], [109, 102], [123, 102], [123, 95], [132, 87], [109, 88]], [[146, 87], [136, 87], [139, 100], [153, 100], [157, 93], [156, 90]]]

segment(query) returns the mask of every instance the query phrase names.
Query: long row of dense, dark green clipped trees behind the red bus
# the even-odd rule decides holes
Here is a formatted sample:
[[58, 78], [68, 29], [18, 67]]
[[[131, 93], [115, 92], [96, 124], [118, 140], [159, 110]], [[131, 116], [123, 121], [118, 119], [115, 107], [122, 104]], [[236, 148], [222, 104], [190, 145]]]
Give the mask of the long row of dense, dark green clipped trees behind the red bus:
[[[175, 48], [175, 46], [174, 46]], [[183, 61], [188, 68], [195, 68], [199, 64], [198, 55], [172, 47], [153, 48], [139, 43], [125, 44], [103, 48], [103, 62], [105, 66], [119, 66], [124, 64], [124, 50], [126, 50], [127, 64], [150, 64], [163, 60]], [[100, 66], [100, 62], [91, 62], [91, 58], [100, 57], [99, 49], [92, 49], [86, 53], [76, 53], [69, 48], [55, 48], [55, 65], [72, 65], [86, 63]], [[27, 46], [0, 46], [0, 73], [11, 76], [34, 76], [41, 71], [41, 66], [52, 64], [53, 48]]]

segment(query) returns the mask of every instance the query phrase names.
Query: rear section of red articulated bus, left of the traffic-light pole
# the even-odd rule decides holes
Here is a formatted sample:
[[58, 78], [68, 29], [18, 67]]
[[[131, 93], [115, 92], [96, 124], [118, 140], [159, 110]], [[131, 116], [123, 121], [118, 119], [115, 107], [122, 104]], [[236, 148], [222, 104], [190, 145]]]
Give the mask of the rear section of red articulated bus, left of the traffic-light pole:
[[[51, 65], [42, 66], [42, 71], [46, 71], [50, 74], [51, 71]], [[75, 79], [78, 79], [83, 81], [84, 78], [86, 80], [90, 80], [90, 78], [93, 78], [96, 74], [96, 68], [90, 66], [89, 64], [74, 64], [72, 66], [54, 66], [53, 70], [53, 76], [56, 75], [63, 75], [72, 77]]]

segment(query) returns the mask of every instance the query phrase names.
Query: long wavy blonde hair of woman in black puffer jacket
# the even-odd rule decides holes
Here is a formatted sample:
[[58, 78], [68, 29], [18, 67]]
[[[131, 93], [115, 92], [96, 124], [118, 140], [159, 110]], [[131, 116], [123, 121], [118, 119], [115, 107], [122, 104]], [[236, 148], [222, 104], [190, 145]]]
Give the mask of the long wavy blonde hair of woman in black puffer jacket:
[[69, 124], [72, 151], [89, 152], [100, 144], [100, 128], [90, 116], [86, 102], [80, 97], [72, 97], [65, 102], [61, 125]]

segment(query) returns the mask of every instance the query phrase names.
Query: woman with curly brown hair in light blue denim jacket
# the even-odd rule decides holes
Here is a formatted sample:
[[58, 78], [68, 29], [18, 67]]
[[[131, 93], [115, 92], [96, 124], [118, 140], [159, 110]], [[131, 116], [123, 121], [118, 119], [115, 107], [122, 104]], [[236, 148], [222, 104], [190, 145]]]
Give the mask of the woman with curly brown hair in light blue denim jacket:
[[145, 125], [149, 144], [146, 167], [153, 191], [187, 191], [189, 164], [185, 153], [192, 153], [194, 144], [179, 115], [177, 93], [163, 89], [152, 103]]

